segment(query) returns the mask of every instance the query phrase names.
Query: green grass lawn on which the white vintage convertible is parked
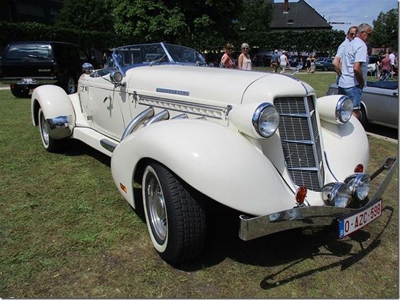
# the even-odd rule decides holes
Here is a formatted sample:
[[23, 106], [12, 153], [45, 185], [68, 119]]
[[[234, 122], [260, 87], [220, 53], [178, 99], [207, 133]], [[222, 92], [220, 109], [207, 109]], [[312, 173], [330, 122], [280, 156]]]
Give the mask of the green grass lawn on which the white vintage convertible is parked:
[[[334, 74], [298, 78], [321, 96]], [[296, 230], [244, 242], [237, 219], [220, 215], [199, 260], [174, 268], [119, 195], [108, 157], [75, 141], [50, 154], [31, 124], [30, 100], [6, 90], [0, 104], [1, 297], [399, 297], [397, 174], [382, 217], [351, 238]], [[397, 152], [370, 138], [370, 167]]]

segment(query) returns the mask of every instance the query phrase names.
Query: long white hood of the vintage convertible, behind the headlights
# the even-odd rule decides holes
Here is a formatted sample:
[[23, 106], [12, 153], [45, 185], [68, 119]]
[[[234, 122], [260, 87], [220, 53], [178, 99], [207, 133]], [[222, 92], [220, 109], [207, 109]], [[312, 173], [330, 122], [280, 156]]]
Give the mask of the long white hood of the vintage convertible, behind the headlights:
[[201, 66], [131, 68], [127, 82], [129, 93], [216, 105], [263, 102], [275, 96], [305, 95], [307, 89], [312, 90], [300, 80], [280, 74]]

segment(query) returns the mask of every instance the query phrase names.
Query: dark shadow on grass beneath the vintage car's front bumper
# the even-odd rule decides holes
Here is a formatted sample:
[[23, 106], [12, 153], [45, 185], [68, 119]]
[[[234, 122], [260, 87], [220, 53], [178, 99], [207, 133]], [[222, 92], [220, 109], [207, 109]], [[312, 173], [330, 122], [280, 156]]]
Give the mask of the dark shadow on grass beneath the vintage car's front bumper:
[[[174, 267], [184, 271], [200, 270], [204, 267], [216, 265], [225, 260], [225, 258], [230, 258], [246, 265], [265, 267], [286, 265], [281, 270], [278, 270], [278, 272], [266, 276], [260, 283], [262, 289], [271, 289], [302, 277], [308, 277], [324, 270], [337, 268], [338, 266], [341, 267], [341, 270], [346, 270], [380, 245], [380, 237], [392, 219], [394, 212], [394, 209], [388, 206], [384, 210], [390, 211], [387, 223], [382, 228], [382, 231], [377, 234], [376, 238], [368, 243], [366, 247], [363, 246], [363, 242], [370, 239], [368, 232], [360, 230], [350, 236], [351, 241], [343, 241], [337, 239], [336, 230], [332, 227], [325, 227], [318, 231], [293, 229], [251, 241], [242, 241], [237, 236], [239, 228], [237, 212], [225, 212], [225, 215], [222, 215], [222, 217], [220, 215], [218, 220], [208, 223], [208, 236], [202, 256], [195, 263], [185, 263], [175, 265]], [[235, 226], [232, 224], [235, 224]], [[360, 244], [362, 250], [351, 254], [353, 248], [351, 243], [354, 241]], [[321, 247], [326, 248], [329, 253], [321, 253], [319, 250]], [[346, 256], [346, 258], [329, 265], [322, 265], [319, 268], [274, 281], [274, 278], [286, 270], [293, 268], [298, 263], [317, 256], [334, 256], [339, 258]]]

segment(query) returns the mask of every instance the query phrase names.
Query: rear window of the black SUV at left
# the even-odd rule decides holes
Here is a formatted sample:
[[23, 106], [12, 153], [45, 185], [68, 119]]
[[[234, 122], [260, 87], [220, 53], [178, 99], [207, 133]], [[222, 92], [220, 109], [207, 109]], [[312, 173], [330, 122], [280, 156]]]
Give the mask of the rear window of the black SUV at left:
[[52, 59], [52, 47], [45, 43], [11, 44], [6, 59]]

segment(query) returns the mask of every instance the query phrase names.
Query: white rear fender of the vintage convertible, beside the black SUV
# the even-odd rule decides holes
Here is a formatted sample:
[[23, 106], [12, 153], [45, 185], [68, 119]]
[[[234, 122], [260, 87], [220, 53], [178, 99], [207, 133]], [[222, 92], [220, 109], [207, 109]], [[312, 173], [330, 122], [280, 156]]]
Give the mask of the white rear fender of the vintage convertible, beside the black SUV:
[[71, 100], [66, 95], [66, 92], [57, 85], [40, 85], [35, 88], [30, 105], [34, 126], [38, 125], [37, 112], [40, 107], [45, 115], [45, 119], [67, 116], [69, 126], [73, 127], [75, 124], [76, 116]]

